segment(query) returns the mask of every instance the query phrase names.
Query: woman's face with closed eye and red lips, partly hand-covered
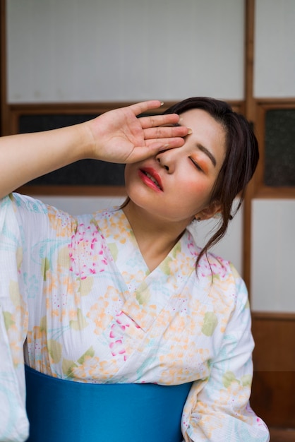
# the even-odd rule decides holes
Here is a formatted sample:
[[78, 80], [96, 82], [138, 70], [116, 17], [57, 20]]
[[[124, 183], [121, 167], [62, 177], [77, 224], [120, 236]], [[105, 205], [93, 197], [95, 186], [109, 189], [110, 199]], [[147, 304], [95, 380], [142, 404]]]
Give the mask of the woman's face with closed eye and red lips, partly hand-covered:
[[210, 217], [212, 187], [225, 156], [225, 132], [202, 109], [181, 114], [181, 124], [192, 129], [181, 148], [126, 165], [126, 191], [133, 204], [170, 222]]

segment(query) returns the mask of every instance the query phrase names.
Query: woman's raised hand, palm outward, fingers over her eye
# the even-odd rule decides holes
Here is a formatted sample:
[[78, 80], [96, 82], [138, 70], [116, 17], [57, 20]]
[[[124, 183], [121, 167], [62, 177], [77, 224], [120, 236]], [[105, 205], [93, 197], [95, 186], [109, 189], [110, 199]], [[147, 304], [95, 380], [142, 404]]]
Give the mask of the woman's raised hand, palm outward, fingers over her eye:
[[178, 115], [137, 117], [160, 105], [159, 100], [140, 102], [106, 112], [88, 121], [94, 141], [90, 157], [128, 163], [144, 160], [165, 148], [181, 147], [188, 128], [175, 126], [179, 121]]

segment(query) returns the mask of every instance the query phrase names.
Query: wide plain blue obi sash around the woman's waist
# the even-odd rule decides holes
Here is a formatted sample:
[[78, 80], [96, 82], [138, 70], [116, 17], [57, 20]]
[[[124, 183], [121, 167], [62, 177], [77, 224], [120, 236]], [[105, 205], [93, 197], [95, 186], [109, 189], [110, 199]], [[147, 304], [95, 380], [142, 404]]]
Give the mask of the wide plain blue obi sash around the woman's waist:
[[28, 442], [181, 442], [192, 383], [64, 381], [25, 366]]

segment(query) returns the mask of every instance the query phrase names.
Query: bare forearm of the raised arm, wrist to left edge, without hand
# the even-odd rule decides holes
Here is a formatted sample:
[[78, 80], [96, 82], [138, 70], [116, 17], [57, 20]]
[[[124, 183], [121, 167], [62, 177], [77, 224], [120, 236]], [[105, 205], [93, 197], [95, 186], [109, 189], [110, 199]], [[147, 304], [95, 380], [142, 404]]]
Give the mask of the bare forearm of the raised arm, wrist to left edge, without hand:
[[28, 181], [87, 157], [87, 126], [0, 138], [0, 197]]

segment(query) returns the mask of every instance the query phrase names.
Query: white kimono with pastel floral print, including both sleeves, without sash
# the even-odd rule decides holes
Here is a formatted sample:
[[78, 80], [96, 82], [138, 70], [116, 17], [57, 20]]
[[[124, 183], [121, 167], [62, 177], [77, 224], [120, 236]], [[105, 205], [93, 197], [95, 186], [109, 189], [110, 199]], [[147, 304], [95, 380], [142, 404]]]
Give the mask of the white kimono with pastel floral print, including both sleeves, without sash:
[[251, 314], [231, 263], [209, 253], [196, 273], [186, 230], [150, 272], [120, 208], [72, 217], [18, 193], [0, 232], [0, 441], [28, 436], [24, 359], [80, 383], [193, 382], [183, 441], [269, 441], [248, 402]]

